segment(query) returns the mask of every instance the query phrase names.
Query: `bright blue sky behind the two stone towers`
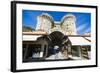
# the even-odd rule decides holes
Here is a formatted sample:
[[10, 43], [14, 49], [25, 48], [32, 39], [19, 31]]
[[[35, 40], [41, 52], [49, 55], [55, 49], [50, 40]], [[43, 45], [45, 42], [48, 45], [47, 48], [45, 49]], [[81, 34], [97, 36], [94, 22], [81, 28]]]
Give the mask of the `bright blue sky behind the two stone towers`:
[[22, 24], [31, 28], [36, 28], [37, 16], [42, 13], [48, 13], [53, 17], [54, 21], [61, 21], [64, 15], [73, 14], [76, 17], [76, 29], [78, 34], [91, 32], [91, 14], [79, 12], [58, 12], [58, 11], [37, 11], [37, 10], [23, 10]]

